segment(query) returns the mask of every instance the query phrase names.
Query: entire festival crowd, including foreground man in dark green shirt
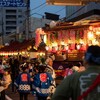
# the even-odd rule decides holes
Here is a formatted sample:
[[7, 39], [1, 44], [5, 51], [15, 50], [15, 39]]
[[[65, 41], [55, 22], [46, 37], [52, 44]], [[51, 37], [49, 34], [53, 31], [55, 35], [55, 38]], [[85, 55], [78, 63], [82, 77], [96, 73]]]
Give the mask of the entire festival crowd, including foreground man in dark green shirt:
[[100, 74], [99, 46], [90, 46], [87, 49], [83, 64], [81, 62], [69, 64], [62, 73], [63, 80], [59, 85], [55, 80], [53, 60], [50, 55], [46, 59], [35, 59], [34, 62], [27, 60], [20, 62], [17, 57], [2, 60], [0, 62], [0, 87], [4, 87], [4, 90], [1, 92], [0, 100], [5, 100], [5, 90], [9, 86], [12, 87], [12, 92], [19, 93], [19, 100], [28, 100], [30, 93], [34, 100], [100, 99], [99, 87], [95, 86], [96, 89], [91, 93], [88, 90], [96, 76]]

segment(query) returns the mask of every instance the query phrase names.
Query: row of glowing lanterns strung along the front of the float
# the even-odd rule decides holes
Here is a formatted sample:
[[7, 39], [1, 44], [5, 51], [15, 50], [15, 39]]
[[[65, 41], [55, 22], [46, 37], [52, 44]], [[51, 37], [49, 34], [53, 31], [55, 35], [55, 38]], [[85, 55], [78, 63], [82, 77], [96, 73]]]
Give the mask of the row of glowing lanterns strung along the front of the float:
[[[86, 50], [87, 46], [90, 45], [100, 45], [100, 27], [90, 26], [89, 30], [86, 33], [86, 42], [83, 38], [78, 40], [78, 43], [74, 43], [73, 40], [69, 39], [68, 43], [62, 41], [60, 45], [56, 42], [53, 42], [50, 45], [46, 46], [48, 52], [57, 52], [57, 51], [68, 51], [68, 50]], [[88, 45], [87, 45], [88, 44]]]

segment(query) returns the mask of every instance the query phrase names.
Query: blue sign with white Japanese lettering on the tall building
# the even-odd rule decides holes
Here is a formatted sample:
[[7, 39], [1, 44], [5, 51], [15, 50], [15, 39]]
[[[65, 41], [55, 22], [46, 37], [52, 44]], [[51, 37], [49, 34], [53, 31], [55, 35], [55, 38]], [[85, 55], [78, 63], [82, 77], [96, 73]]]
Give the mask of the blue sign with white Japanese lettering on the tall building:
[[26, 7], [23, 0], [0, 0], [0, 7]]

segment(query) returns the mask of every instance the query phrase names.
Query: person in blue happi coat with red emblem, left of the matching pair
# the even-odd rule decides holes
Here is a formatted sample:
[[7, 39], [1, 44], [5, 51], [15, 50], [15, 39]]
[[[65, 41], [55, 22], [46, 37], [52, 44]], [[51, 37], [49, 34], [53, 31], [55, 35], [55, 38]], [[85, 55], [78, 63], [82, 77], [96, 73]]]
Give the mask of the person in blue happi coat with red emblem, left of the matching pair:
[[18, 89], [20, 100], [28, 100], [28, 94], [31, 91], [31, 76], [27, 72], [28, 65], [25, 63], [20, 66], [22, 72], [15, 80], [15, 85]]

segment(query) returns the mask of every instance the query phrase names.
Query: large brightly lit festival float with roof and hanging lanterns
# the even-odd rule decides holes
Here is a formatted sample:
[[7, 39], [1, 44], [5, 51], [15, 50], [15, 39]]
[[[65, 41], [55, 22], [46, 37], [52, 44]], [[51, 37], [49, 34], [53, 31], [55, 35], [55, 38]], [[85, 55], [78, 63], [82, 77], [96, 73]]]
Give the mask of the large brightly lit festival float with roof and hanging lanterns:
[[67, 63], [83, 61], [88, 46], [100, 45], [100, 21], [53, 21], [49, 27], [36, 29], [35, 41], [37, 49], [40, 44], [44, 44], [45, 49], [39, 51], [41, 56], [55, 56], [53, 67], [61, 75]]

